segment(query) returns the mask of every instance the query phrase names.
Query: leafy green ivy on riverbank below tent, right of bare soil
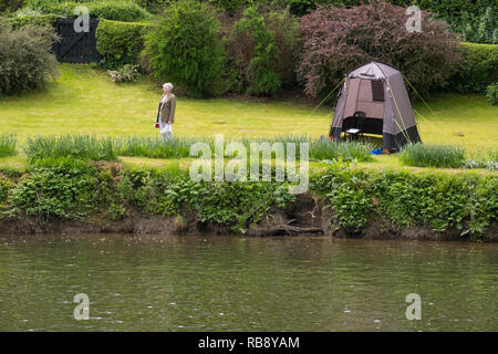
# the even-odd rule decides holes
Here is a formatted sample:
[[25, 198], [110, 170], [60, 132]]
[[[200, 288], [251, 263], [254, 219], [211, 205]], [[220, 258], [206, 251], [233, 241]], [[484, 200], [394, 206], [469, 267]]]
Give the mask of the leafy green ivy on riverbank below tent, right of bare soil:
[[396, 228], [457, 228], [461, 236], [479, 237], [498, 216], [496, 176], [331, 168], [313, 176], [310, 186], [350, 230], [371, 220], [390, 220]]

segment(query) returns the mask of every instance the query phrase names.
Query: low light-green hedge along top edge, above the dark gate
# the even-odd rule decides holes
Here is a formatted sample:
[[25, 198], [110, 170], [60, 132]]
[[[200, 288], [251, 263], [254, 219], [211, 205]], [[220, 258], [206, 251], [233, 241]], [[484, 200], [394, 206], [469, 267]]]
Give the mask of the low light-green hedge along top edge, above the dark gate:
[[91, 18], [134, 22], [151, 17], [146, 10], [142, 9], [133, 1], [125, 0], [100, 0], [100, 1], [51, 1], [51, 0], [29, 0], [23, 10], [32, 9], [42, 13], [54, 13], [58, 17], [74, 18], [74, 9], [84, 6], [89, 9]]

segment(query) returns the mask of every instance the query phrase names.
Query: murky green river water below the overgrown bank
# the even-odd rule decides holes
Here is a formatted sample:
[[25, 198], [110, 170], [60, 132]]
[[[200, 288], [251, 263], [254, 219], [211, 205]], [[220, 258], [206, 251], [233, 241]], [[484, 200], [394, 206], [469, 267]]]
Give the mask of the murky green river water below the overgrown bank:
[[498, 244], [0, 237], [0, 330], [498, 331], [497, 281]]

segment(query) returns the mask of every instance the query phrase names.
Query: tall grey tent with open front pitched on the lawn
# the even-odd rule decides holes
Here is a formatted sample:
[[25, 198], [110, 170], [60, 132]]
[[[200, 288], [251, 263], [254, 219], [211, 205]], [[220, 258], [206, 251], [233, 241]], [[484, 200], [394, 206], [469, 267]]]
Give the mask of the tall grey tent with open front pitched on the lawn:
[[417, 125], [403, 75], [396, 69], [372, 62], [350, 72], [335, 106], [330, 138], [355, 127], [355, 113], [363, 112], [361, 131], [383, 136], [383, 146], [400, 150], [407, 143], [418, 143]]

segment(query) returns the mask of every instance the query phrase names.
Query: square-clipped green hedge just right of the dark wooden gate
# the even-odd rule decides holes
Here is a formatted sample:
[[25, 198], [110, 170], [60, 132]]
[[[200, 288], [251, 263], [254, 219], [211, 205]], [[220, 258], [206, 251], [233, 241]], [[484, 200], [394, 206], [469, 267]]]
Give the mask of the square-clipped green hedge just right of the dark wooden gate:
[[101, 64], [110, 70], [137, 64], [144, 48], [143, 37], [149, 29], [146, 23], [101, 20], [95, 33]]

